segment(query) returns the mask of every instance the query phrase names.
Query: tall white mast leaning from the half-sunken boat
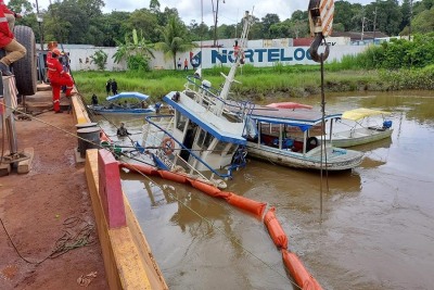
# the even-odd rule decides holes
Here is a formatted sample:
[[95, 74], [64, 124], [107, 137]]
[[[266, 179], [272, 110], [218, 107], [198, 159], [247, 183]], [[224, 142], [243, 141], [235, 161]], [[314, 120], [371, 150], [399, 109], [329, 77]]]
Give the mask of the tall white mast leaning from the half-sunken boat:
[[[244, 48], [247, 46], [248, 30], [253, 24], [253, 16], [250, 15], [248, 11], [245, 12], [243, 22], [244, 22], [243, 33], [241, 34], [241, 38], [238, 43], [239, 48], [235, 48], [233, 51], [233, 55], [237, 55], [235, 61], [233, 62], [228, 75], [225, 75], [224, 73], [221, 73], [221, 75], [226, 78], [226, 81], [225, 81], [224, 88], [220, 91], [220, 96], [219, 96], [220, 100], [216, 104], [215, 114], [218, 116], [220, 116], [222, 114], [222, 109], [225, 106], [224, 102], [229, 97], [229, 91], [232, 86], [232, 83], [235, 81], [234, 77], [235, 77], [237, 68], [240, 66], [241, 62], [244, 62]], [[238, 49], [238, 51], [235, 51], [237, 49]]]

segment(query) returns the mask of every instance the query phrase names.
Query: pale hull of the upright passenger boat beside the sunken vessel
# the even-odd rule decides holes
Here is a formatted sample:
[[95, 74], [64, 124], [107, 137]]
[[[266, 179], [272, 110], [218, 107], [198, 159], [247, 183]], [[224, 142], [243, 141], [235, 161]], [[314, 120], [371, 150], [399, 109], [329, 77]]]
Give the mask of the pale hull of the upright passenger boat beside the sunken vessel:
[[[321, 156], [317, 147], [306, 154], [247, 142], [247, 156], [272, 162], [281, 166], [302, 169], [347, 171], [361, 164], [363, 153], [328, 146]], [[327, 156], [327, 164], [326, 164]], [[322, 162], [321, 162], [322, 157]]]

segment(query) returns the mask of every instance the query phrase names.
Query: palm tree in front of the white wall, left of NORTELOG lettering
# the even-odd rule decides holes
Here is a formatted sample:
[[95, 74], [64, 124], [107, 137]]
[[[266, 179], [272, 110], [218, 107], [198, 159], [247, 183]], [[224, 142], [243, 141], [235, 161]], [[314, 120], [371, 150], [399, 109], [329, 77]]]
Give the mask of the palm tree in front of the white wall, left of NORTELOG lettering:
[[176, 56], [178, 52], [186, 52], [195, 48], [196, 45], [186, 40], [187, 29], [183, 24], [175, 16], [169, 18], [166, 27], [162, 31], [164, 42], [155, 43], [155, 49], [163, 51], [165, 58], [173, 58], [174, 68], [176, 70]]

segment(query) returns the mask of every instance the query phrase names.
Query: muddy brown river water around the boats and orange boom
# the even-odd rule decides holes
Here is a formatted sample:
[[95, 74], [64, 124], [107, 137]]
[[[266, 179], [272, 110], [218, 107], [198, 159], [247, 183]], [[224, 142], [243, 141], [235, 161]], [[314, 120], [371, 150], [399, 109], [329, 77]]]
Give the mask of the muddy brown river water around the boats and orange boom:
[[[276, 206], [289, 249], [323, 289], [434, 289], [434, 93], [348, 96], [328, 94], [327, 110], [393, 112], [394, 133], [355, 148], [361, 166], [324, 177], [322, 214], [318, 172], [251, 160], [228, 191]], [[319, 97], [290, 101], [320, 109]], [[143, 123], [120, 121], [131, 133]], [[170, 289], [298, 289], [260, 220], [187, 186], [122, 176]]]

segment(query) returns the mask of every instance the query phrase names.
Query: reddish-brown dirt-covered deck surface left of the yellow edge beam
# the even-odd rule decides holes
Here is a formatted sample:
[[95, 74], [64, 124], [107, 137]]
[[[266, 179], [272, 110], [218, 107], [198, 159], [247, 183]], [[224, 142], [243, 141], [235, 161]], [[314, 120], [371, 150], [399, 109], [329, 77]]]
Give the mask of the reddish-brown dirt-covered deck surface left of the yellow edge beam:
[[[0, 289], [108, 289], [77, 139], [61, 130], [76, 133], [73, 115], [50, 111], [15, 128], [18, 151], [35, 155], [28, 174], [0, 177]], [[54, 249], [65, 252], [44, 260]], [[94, 272], [87, 287], [77, 282]]]

